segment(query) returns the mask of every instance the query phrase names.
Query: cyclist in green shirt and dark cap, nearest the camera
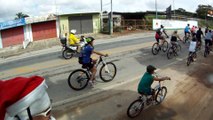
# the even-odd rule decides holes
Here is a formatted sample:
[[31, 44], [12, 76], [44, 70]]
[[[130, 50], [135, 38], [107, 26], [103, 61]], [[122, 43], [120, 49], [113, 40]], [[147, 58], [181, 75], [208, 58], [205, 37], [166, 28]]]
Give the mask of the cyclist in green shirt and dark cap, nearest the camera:
[[170, 80], [170, 77], [155, 77], [153, 74], [155, 73], [156, 68], [152, 65], [148, 65], [146, 68], [146, 72], [138, 84], [138, 93], [145, 95], [152, 95], [151, 98], [154, 98], [155, 91], [151, 88], [151, 85], [154, 81], [163, 81]]

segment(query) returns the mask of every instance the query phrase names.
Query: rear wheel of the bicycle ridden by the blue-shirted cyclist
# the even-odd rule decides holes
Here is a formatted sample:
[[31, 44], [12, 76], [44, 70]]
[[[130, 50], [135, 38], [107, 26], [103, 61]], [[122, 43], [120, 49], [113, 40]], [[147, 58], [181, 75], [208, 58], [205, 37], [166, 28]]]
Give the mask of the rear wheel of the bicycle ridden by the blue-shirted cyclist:
[[89, 75], [85, 70], [77, 69], [68, 78], [68, 85], [74, 90], [84, 89], [89, 81]]

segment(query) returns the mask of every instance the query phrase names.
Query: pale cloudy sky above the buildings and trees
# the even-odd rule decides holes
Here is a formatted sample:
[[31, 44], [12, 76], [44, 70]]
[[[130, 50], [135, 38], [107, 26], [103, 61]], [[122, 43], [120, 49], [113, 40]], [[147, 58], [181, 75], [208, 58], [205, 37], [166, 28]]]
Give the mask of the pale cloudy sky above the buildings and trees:
[[[0, 0], [0, 22], [13, 20], [16, 13], [43, 16], [51, 13], [67, 14], [81, 12], [100, 12], [101, 0]], [[103, 11], [110, 11], [110, 1], [102, 0]], [[172, 9], [183, 8], [195, 12], [199, 4], [213, 6], [213, 0], [112, 0], [113, 11], [139, 12], [165, 11], [169, 5]]]

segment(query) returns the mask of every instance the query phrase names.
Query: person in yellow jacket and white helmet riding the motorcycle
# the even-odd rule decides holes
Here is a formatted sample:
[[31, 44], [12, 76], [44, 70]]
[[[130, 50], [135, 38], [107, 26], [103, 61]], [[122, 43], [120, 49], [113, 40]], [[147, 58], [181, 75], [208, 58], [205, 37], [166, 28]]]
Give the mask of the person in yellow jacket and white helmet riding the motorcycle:
[[80, 53], [80, 51], [81, 51], [81, 45], [79, 44], [80, 43], [80, 39], [75, 36], [75, 33], [76, 33], [75, 29], [72, 29], [70, 31], [69, 45], [70, 46], [77, 46], [77, 52]]

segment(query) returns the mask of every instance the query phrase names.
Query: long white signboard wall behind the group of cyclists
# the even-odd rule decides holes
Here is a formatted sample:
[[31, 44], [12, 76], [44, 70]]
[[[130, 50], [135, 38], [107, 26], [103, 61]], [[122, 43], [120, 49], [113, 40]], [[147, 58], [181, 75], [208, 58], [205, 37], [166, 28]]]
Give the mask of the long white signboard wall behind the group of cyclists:
[[197, 21], [181, 21], [181, 20], [162, 20], [162, 19], [153, 19], [152, 28], [156, 30], [160, 28], [160, 25], [163, 25], [165, 29], [184, 29], [187, 24], [192, 26], [198, 26]]

